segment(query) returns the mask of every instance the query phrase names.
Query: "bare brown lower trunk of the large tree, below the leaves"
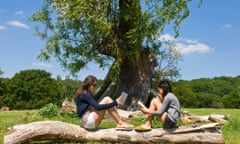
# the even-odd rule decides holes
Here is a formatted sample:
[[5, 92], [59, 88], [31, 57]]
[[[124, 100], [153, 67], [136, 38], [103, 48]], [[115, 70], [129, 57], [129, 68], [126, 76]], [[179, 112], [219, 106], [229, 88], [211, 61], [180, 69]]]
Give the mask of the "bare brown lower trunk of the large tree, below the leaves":
[[150, 52], [145, 50], [137, 60], [124, 59], [120, 73], [120, 91], [126, 90], [129, 94], [123, 109], [137, 110], [137, 101], [140, 100], [148, 105], [151, 97], [151, 77], [154, 64], [149, 58]]

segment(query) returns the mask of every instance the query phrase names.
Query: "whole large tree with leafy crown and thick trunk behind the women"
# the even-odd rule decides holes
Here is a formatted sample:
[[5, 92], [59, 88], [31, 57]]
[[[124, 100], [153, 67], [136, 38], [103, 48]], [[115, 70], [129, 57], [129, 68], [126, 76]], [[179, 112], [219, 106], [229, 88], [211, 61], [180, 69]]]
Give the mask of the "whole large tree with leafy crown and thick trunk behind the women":
[[96, 97], [115, 81], [115, 94], [122, 90], [129, 93], [123, 108], [135, 109], [137, 100], [148, 101], [152, 80], [179, 74], [179, 53], [169, 43], [166, 51], [158, 38], [168, 24], [173, 24], [178, 36], [190, 2], [45, 0], [31, 17], [45, 26], [36, 28], [36, 34], [46, 40], [39, 58], [48, 60], [53, 55], [72, 74], [91, 61], [100, 67], [110, 66]]

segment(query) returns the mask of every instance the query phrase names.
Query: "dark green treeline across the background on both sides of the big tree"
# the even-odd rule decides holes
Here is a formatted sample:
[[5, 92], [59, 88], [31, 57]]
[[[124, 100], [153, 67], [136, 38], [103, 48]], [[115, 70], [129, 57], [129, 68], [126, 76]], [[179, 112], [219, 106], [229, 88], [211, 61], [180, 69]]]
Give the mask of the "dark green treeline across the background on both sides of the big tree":
[[[98, 85], [102, 80], [98, 81]], [[36, 109], [48, 103], [71, 100], [81, 81], [56, 79], [44, 70], [24, 70], [13, 78], [0, 78], [0, 107]], [[186, 108], [240, 108], [240, 76], [200, 78], [172, 82], [181, 106]]]

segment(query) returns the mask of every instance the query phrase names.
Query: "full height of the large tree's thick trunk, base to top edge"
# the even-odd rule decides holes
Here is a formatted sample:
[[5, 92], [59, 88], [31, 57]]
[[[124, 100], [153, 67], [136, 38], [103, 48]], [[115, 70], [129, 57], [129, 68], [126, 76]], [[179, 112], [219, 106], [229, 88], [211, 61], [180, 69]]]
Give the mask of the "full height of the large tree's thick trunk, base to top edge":
[[[155, 64], [150, 58], [151, 50], [142, 47], [142, 28], [139, 27], [142, 22], [140, 1], [119, 0], [119, 9], [118, 37], [120, 38], [119, 48], [122, 54], [119, 92], [125, 90], [129, 94], [126, 103], [121, 108], [136, 110], [138, 100], [148, 105], [150, 99], [148, 90], [151, 86], [152, 71]], [[129, 38], [129, 33], [134, 37]]]

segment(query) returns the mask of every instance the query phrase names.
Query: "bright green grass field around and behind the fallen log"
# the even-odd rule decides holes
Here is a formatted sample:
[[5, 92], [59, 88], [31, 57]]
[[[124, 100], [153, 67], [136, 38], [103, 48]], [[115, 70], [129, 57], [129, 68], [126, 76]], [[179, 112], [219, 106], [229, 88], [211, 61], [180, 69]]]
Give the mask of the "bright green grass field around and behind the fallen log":
[[[224, 139], [226, 144], [238, 144], [240, 143], [240, 109], [188, 109], [184, 108], [182, 111], [188, 111], [191, 114], [196, 115], [209, 115], [209, 114], [222, 114], [230, 115], [228, 123], [222, 127]], [[40, 116], [38, 110], [22, 110], [22, 111], [5, 111], [0, 112], [0, 143], [3, 143], [3, 136], [6, 134], [7, 129], [15, 124], [29, 123], [39, 120], [59, 120], [73, 124], [80, 124], [79, 119], [73, 115], [55, 116], [46, 118]], [[130, 123], [139, 125], [144, 123], [145, 119], [132, 119]], [[159, 122], [153, 122], [154, 127], [161, 127]], [[110, 128], [115, 127], [115, 123], [112, 121], [104, 120], [100, 127]]]

